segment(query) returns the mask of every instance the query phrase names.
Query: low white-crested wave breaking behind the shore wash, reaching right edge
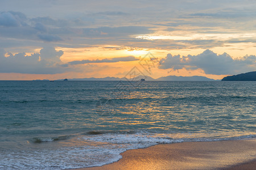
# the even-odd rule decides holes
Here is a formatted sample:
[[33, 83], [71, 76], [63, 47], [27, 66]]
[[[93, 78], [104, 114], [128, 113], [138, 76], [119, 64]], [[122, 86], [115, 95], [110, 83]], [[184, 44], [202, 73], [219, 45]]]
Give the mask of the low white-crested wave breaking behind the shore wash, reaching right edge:
[[[179, 143], [179, 142], [208, 142], [208, 141], [227, 141], [256, 138], [256, 134], [241, 135], [227, 137], [225, 135], [217, 135], [212, 137], [190, 137], [192, 134], [153, 134], [147, 131], [89, 131], [84, 136], [84, 139], [94, 142], [108, 142], [108, 143], [139, 143], [147, 147], [158, 143]], [[90, 135], [90, 137], [88, 137]], [[179, 138], [178, 136], [181, 136]], [[182, 137], [184, 136], [184, 137]], [[143, 146], [141, 146], [143, 147]]]

